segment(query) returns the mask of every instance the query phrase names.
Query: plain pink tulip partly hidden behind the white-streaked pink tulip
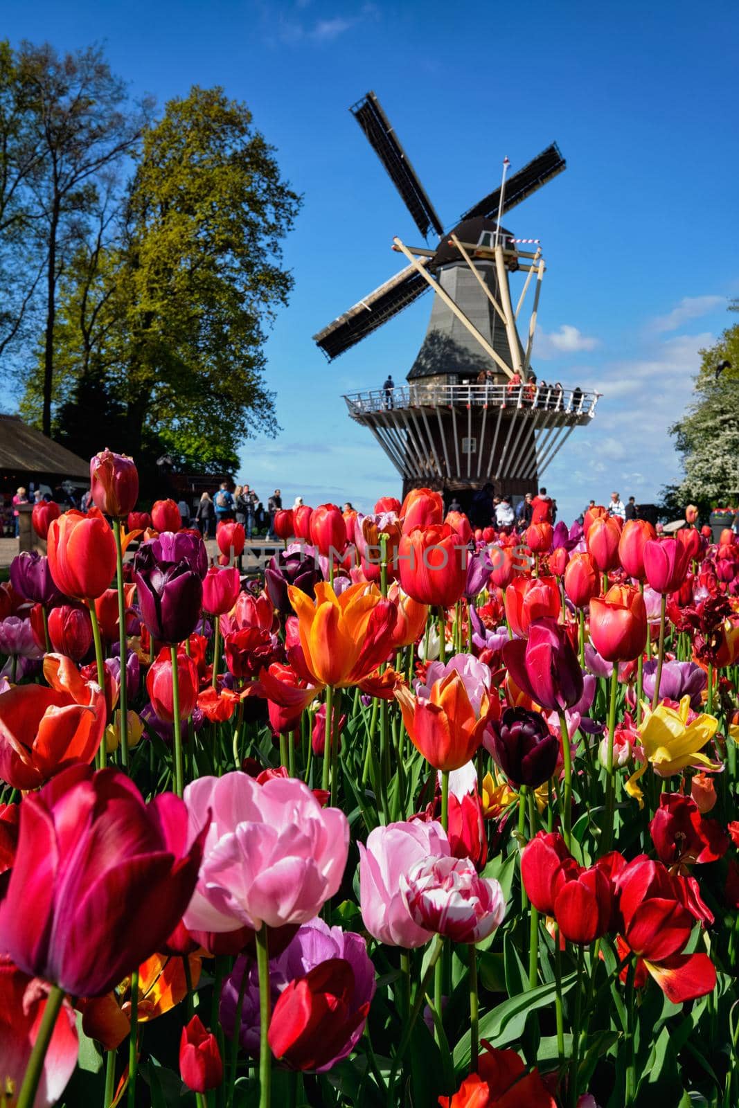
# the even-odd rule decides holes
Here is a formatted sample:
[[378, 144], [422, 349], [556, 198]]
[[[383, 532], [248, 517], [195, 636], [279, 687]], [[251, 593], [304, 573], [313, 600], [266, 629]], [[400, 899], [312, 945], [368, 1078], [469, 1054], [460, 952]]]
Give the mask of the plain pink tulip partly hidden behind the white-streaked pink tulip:
[[389, 946], [423, 946], [432, 933], [411, 919], [399, 882], [429, 855], [449, 856], [441, 823], [388, 823], [370, 831], [367, 847], [358, 845], [359, 903], [370, 935]]

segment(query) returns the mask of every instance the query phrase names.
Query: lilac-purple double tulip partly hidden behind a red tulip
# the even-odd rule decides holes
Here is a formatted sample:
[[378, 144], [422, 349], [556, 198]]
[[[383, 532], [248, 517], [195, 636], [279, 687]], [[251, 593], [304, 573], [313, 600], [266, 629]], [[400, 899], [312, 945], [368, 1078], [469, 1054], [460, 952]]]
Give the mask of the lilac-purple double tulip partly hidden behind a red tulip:
[[[355, 1004], [359, 1007], [374, 996], [374, 966], [367, 955], [367, 943], [361, 935], [341, 927], [329, 927], [317, 916], [310, 923], [304, 923], [295, 938], [283, 953], [269, 963], [269, 984], [273, 1005], [280, 993], [297, 977], [305, 977], [316, 966], [329, 958], [343, 958], [349, 963], [355, 975]], [[248, 973], [242, 1005], [242, 1023], [238, 1040], [242, 1047], [252, 1055], [259, 1051], [259, 981], [257, 967], [242, 955], [237, 958], [233, 973], [226, 977], [220, 992], [220, 1024], [230, 1039], [236, 1025], [236, 1009], [239, 993], [244, 983], [244, 974]], [[338, 1054], [321, 1070], [330, 1069], [341, 1058], [346, 1058], [353, 1049], [365, 1029], [362, 1020]]]

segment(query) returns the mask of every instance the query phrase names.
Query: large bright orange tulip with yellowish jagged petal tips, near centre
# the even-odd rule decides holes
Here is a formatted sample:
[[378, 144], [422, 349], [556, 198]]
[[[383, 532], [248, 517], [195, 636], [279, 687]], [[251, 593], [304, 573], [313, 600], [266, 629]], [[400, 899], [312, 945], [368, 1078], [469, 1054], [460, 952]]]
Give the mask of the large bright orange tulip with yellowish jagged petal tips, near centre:
[[287, 592], [306, 665], [318, 684], [359, 685], [386, 660], [396, 607], [374, 585], [360, 582], [337, 596], [328, 582], [319, 581], [315, 601], [295, 585]]

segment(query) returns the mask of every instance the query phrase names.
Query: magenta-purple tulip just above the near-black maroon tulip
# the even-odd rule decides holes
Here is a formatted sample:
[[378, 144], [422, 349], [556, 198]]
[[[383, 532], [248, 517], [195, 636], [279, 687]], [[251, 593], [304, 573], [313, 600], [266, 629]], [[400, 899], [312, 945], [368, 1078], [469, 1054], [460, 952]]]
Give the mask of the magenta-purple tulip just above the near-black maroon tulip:
[[583, 671], [565, 627], [556, 619], [535, 619], [528, 638], [511, 639], [503, 663], [522, 693], [545, 711], [569, 708], [583, 696]]

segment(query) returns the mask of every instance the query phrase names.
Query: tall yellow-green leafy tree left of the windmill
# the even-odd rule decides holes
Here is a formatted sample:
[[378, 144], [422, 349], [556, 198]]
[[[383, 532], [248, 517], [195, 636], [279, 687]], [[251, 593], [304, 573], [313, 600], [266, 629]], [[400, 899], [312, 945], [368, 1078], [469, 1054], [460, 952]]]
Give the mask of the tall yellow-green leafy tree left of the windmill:
[[219, 88], [167, 103], [144, 130], [120, 234], [90, 236], [60, 286], [60, 432], [84, 423], [91, 388], [114, 398], [111, 433], [136, 456], [233, 470], [245, 438], [274, 432], [264, 341], [292, 287], [280, 243], [299, 205], [245, 104]]

